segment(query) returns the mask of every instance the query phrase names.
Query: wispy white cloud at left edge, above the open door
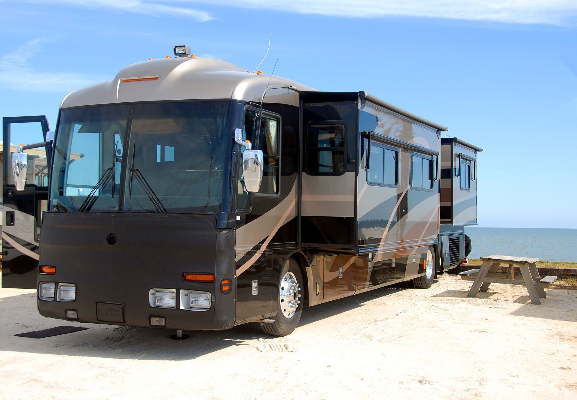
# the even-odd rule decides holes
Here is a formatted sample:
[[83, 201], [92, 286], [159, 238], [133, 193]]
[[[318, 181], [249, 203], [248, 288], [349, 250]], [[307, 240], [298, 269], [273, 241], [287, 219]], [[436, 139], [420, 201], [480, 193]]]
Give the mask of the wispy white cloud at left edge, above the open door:
[[49, 38], [29, 40], [13, 52], [1, 56], [0, 85], [6, 89], [28, 92], [70, 92], [104, 80], [82, 74], [35, 70], [30, 65], [29, 54], [38, 52], [43, 44], [54, 41]]

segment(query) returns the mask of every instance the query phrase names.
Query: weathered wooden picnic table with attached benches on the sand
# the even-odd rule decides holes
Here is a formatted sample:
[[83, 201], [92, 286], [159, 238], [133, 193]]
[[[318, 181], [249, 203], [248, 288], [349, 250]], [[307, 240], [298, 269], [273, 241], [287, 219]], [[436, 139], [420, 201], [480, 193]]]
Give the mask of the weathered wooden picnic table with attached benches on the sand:
[[[510, 255], [490, 255], [488, 257], [481, 257], [483, 265], [480, 269], [472, 269], [460, 273], [460, 277], [464, 281], [473, 281], [473, 286], [469, 290], [467, 297], [476, 297], [479, 290], [486, 292], [489, 285], [492, 283], [506, 284], [506, 285], [525, 285], [527, 292], [531, 297], [531, 303], [541, 304], [541, 300], [545, 299], [545, 288], [548, 288], [557, 277], [546, 276], [541, 278], [537, 265], [538, 258], [517, 257]], [[508, 264], [507, 273], [498, 273], [501, 264]], [[515, 276], [515, 265], [519, 265], [521, 276]]]

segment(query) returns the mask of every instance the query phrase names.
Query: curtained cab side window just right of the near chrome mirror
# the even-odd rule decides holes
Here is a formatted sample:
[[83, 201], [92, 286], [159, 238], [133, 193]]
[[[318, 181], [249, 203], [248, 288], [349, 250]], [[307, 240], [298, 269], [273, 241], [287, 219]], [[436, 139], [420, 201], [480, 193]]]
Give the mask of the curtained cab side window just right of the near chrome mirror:
[[258, 131], [258, 150], [263, 150], [264, 172], [263, 183], [259, 194], [279, 193], [279, 119], [272, 115], [263, 114]]

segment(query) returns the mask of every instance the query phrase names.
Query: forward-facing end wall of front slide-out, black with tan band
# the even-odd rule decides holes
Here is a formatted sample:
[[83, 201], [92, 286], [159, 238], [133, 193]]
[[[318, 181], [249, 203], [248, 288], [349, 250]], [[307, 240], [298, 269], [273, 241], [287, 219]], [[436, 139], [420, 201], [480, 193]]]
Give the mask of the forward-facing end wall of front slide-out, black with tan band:
[[355, 249], [357, 92], [302, 92], [302, 246]]

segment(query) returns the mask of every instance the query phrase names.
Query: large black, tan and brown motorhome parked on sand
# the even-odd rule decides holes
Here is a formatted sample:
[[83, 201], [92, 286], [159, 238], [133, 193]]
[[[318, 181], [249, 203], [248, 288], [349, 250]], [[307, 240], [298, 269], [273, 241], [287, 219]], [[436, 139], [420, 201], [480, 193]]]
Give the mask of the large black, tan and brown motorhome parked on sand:
[[[39, 143], [4, 157], [2, 271], [38, 288], [40, 314], [280, 336], [305, 304], [429, 288], [456, 266], [441, 259], [446, 127], [366, 92], [175, 55], [70, 93], [55, 132], [4, 120], [5, 154], [16, 126], [40, 122]], [[46, 185], [28, 172], [39, 148]], [[447, 222], [473, 221], [458, 210]]]

